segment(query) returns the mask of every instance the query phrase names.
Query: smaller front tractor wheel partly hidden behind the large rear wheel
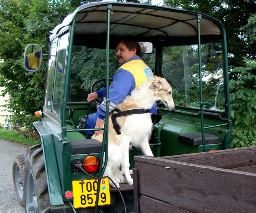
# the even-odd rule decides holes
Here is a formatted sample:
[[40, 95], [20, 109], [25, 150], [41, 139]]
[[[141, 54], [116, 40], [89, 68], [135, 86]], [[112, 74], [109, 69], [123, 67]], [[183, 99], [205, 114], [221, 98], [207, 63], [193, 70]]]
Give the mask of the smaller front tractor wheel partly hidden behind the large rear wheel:
[[17, 198], [24, 206], [23, 181], [24, 181], [25, 156], [23, 154], [14, 157], [12, 163], [12, 179]]

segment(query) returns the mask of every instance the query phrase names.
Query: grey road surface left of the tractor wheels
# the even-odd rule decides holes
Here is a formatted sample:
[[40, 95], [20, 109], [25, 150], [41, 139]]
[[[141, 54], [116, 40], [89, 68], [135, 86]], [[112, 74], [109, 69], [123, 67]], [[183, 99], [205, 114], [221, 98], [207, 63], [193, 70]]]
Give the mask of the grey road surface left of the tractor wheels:
[[16, 155], [26, 154], [27, 147], [20, 143], [0, 139], [0, 213], [25, 212], [14, 190], [12, 161]]

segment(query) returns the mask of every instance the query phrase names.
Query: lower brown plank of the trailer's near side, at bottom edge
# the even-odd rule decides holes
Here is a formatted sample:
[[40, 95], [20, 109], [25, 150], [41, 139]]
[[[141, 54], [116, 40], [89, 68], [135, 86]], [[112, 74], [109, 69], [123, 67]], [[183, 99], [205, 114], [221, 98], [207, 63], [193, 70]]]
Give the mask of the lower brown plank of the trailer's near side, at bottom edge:
[[140, 197], [139, 203], [140, 213], [191, 213], [144, 195]]

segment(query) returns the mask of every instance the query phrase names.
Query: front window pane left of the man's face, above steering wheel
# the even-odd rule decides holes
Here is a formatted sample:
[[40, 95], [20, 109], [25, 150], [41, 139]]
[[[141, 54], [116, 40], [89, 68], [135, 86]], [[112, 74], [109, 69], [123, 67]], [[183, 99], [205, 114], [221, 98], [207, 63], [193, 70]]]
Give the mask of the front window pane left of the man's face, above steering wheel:
[[[113, 77], [119, 65], [115, 52], [115, 50], [110, 50], [110, 78]], [[92, 84], [101, 78], [106, 78], [106, 49], [73, 45], [68, 102], [86, 102]], [[94, 89], [97, 91], [100, 88]]]

